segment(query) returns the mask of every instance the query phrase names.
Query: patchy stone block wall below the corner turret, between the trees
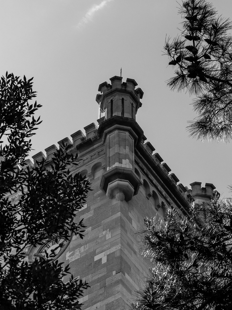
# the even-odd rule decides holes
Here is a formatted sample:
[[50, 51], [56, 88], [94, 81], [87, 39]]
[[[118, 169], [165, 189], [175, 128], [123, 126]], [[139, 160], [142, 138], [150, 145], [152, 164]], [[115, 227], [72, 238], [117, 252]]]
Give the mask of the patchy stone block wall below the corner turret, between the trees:
[[148, 275], [135, 233], [156, 211], [143, 188], [129, 202], [111, 200], [99, 190], [100, 180], [101, 175], [91, 181], [87, 203], [76, 215], [87, 226], [84, 239], [74, 236], [59, 260], [70, 264], [74, 277], [89, 282], [80, 300], [83, 309], [119, 310], [136, 299]]

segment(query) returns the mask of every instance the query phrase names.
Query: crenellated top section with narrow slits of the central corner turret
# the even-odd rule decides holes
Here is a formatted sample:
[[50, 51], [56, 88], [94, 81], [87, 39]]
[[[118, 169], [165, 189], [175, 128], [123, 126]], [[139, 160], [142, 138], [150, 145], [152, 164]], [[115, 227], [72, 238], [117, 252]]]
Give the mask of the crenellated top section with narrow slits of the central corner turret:
[[[122, 82], [122, 77], [114, 76], [110, 78], [111, 84], [103, 82], [99, 85], [96, 101], [100, 106], [100, 114], [105, 114], [105, 119], [114, 115], [122, 117], [131, 117], [135, 119], [135, 114], [142, 103], [144, 92], [134, 79], [127, 78], [126, 82]], [[101, 115], [99, 114], [99, 118]]]

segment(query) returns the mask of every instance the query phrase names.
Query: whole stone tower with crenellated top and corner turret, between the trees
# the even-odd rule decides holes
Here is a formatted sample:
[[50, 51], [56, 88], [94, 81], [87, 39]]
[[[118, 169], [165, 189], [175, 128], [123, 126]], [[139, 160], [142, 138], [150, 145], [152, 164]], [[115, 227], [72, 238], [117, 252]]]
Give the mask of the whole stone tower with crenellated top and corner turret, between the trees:
[[[110, 81], [100, 84], [101, 93], [96, 97], [99, 126], [92, 123], [84, 127], [85, 135], [79, 130], [71, 135], [72, 142], [69, 138], [58, 142], [72, 144], [72, 152], [78, 152], [80, 160], [73, 172], [86, 175], [92, 183], [87, 202], [75, 219], [84, 219], [85, 237], [72, 237], [58, 257], [70, 264], [74, 277], [89, 282], [90, 288], [80, 299], [83, 310], [120, 310], [136, 299], [149, 268], [140, 255], [142, 244], [136, 232], [143, 228], [145, 217], [165, 219], [168, 208], [175, 206], [187, 214], [192, 200], [191, 191], [177, 185], [178, 178], [154, 153], [152, 144], [144, 143], [146, 137], [135, 120], [143, 91], [135, 89], [133, 79], [122, 82], [114, 76]], [[49, 161], [56, 146], [45, 151], [46, 156], [40, 152], [33, 156], [34, 161], [42, 157]], [[193, 196], [199, 198], [202, 189], [196, 183], [192, 184]], [[211, 185], [207, 188], [213, 190]], [[41, 246], [29, 250], [29, 259], [40, 251]]]

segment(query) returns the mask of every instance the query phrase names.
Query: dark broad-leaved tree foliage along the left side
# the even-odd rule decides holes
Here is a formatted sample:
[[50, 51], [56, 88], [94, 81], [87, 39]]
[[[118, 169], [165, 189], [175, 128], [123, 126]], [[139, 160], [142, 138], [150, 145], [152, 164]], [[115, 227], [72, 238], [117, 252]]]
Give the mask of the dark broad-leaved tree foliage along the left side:
[[[40, 123], [33, 115], [41, 105], [29, 104], [35, 96], [32, 78], [6, 73], [0, 80], [0, 309], [80, 309], [77, 299], [87, 283], [72, 275], [63, 283], [68, 266], [42, 257], [30, 263], [25, 256], [28, 246], [47, 238], [83, 238], [85, 226], [74, 217], [89, 190], [89, 182], [69, 170], [77, 156], [67, 145], [54, 154], [49, 169], [45, 160], [34, 168], [24, 164]], [[12, 203], [14, 193], [18, 199]]]

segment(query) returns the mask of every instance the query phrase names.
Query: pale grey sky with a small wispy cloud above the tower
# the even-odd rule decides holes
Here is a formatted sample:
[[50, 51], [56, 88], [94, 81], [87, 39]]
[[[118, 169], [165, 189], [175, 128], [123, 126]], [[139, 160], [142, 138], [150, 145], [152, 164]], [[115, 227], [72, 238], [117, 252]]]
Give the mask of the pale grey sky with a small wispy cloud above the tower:
[[[174, 0], [0, 0], [0, 74], [34, 77], [37, 115], [34, 155], [98, 119], [100, 83], [133, 78], [144, 91], [136, 120], [147, 141], [184, 186], [213, 183], [229, 197], [232, 144], [189, 138], [189, 95], [170, 91], [173, 76], [162, 55], [165, 36], [180, 27]], [[213, 0], [232, 17], [231, 0]], [[71, 138], [70, 138], [71, 139]], [[45, 153], [45, 152], [44, 152]]]

